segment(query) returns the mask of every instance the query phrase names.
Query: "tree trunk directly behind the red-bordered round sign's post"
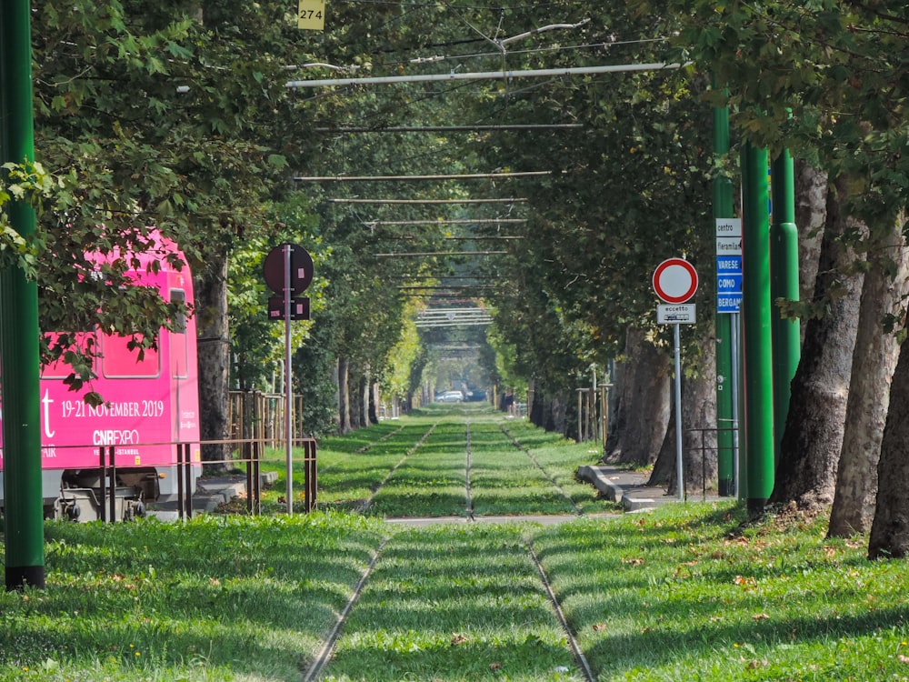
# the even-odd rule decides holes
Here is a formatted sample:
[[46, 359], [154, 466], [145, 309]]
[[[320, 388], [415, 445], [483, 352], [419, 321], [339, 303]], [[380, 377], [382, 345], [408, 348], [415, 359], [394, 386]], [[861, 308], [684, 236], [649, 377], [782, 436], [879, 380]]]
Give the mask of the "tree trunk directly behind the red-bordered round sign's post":
[[[698, 371], [682, 379], [682, 474], [685, 491], [697, 494], [713, 488], [717, 475], [716, 456], [716, 339], [707, 335], [698, 346]], [[682, 358], [684, 365], [684, 357]], [[684, 370], [684, 366], [683, 366]], [[673, 391], [674, 394], [674, 391]], [[675, 448], [675, 410], [669, 417], [663, 447], [654, 464], [649, 486], [668, 486], [678, 492]]]

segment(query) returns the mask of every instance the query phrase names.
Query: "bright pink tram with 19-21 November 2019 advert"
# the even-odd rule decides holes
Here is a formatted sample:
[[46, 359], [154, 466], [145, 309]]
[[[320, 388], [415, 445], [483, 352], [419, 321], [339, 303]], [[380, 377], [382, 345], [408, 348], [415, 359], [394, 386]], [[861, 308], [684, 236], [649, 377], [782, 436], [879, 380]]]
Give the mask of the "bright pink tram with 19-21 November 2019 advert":
[[[188, 266], [176, 270], [165, 259], [179, 254], [163, 236], [137, 254], [129, 273], [137, 285], [155, 286], [167, 301], [192, 306]], [[160, 269], [147, 266], [156, 260]], [[90, 390], [105, 403], [90, 406], [81, 392], [64, 383], [65, 363], [46, 366], [40, 381], [42, 486], [45, 516], [92, 521], [123, 520], [145, 514], [145, 504], [172, 502], [195, 488], [201, 474], [198, 368], [195, 318], [162, 328], [156, 349], [142, 360], [127, 348], [128, 337], [85, 332], [99, 357]], [[0, 450], [0, 506], [3, 506], [3, 453]], [[184, 482], [185, 479], [185, 482]]]

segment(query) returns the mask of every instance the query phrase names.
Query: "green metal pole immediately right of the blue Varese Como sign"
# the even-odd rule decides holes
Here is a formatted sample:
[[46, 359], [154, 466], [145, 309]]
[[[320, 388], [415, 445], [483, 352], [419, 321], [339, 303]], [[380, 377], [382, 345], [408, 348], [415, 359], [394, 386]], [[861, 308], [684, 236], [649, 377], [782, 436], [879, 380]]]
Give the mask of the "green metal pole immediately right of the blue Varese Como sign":
[[770, 333], [770, 216], [767, 150], [742, 152], [744, 224], [742, 308], [744, 421], [751, 514], [761, 514], [774, 490], [774, 386]]

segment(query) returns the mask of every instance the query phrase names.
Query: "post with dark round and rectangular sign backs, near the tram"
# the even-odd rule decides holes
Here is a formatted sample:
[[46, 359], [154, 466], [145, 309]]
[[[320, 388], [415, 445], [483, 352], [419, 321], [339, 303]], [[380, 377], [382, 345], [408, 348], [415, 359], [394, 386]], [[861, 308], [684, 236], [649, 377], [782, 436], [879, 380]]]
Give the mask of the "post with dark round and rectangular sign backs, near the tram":
[[[265, 256], [265, 283], [275, 294], [268, 299], [268, 319], [285, 323], [285, 453], [287, 515], [294, 515], [294, 386], [291, 382], [292, 320], [309, 319], [309, 299], [302, 294], [313, 281], [313, 257], [302, 246], [282, 244]], [[305, 467], [309, 476], [309, 467]], [[306, 486], [308, 489], [309, 486]], [[308, 506], [307, 502], [307, 506]]]

